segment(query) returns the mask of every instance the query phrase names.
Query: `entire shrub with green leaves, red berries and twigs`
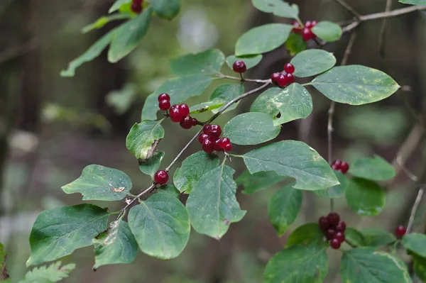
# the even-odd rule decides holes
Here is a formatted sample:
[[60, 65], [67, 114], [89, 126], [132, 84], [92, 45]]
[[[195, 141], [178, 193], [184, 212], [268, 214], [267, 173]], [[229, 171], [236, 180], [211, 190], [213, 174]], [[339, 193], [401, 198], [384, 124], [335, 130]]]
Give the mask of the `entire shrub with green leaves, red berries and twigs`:
[[[421, 4], [424, 0], [403, 1]], [[243, 220], [246, 211], [236, 199], [237, 186], [244, 187], [246, 194], [254, 194], [283, 183], [268, 205], [271, 225], [278, 236], [295, 222], [303, 190], [329, 199], [330, 209], [318, 223], [292, 228], [285, 248], [268, 261], [265, 282], [324, 282], [328, 270], [326, 251], [330, 247], [342, 255], [342, 282], [412, 282], [408, 268], [395, 253], [404, 249], [414, 260], [414, 272], [426, 279], [426, 235], [413, 233], [413, 217], [407, 228], [399, 226], [393, 234], [378, 228], [359, 231], [350, 222], [346, 228], [334, 211], [333, 199], [343, 197], [359, 216], [377, 216], [386, 203], [380, 182], [395, 177], [392, 165], [377, 155], [355, 160], [350, 165], [341, 160], [332, 162], [334, 108], [339, 104], [358, 106], [381, 101], [400, 86], [380, 70], [346, 65], [354, 34], [339, 66], [333, 53], [323, 50], [327, 43], [339, 40], [342, 34], [350, 33], [365, 21], [424, 7], [356, 15], [339, 26], [329, 21], [303, 23], [295, 4], [278, 0], [252, 2], [256, 9], [295, 22], [293, 25], [269, 23], [248, 30], [237, 40], [234, 55], [228, 57], [220, 50], [210, 49], [170, 60], [175, 77], [148, 96], [141, 122], [131, 128], [126, 138], [126, 147], [138, 160], [141, 172], [150, 175], [153, 182], [135, 196], [131, 194], [132, 182], [124, 172], [102, 165], [85, 167], [81, 176], [62, 190], [66, 194], [82, 194], [83, 201], [122, 201], [122, 209], [108, 211], [84, 203], [43, 211], [31, 231], [31, 257], [27, 265], [57, 260], [89, 245], [94, 245], [94, 268], [132, 262], [138, 250], [159, 259], [172, 259], [187, 245], [191, 227], [197, 233], [219, 240], [231, 223]], [[111, 30], [71, 62], [62, 75], [74, 75], [77, 67], [99, 55], [107, 45], [110, 45], [109, 60], [120, 60], [143, 38], [151, 16], [171, 19], [179, 9], [179, 0], [116, 1], [110, 12], [127, 15], [129, 21]], [[315, 48], [307, 49], [307, 42]], [[282, 62], [283, 70], [275, 70], [266, 79], [245, 75], [261, 62], [264, 53], [283, 46], [293, 55], [289, 62]], [[225, 62], [229, 68], [224, 67]], [[236, 76], [230, 75], [232, 71]], [[223, 83], [211, 94], [206, 93], [213, 80]], [[332, 101], [327, 161], [310, 145], [278, 140], [282, 124], [310, 116], [313, 89]], [[190, 97], [200, 95], [204, 103], [186, 104]], [[237, 114], [224, 126], [212, 123], [225, 111], [236, 109], [239, 101], [248, 96], [257, 96], [249, 112]], [[199, 121], [199, 113], [211, 115], [207, 121]], [[194, 131], [194, 135], [165, 167], [162, 160], [168, 153], [158, 151], [158, 145], [165, 135], [162, 124], [168, 123], [168, 118], [181, 128]], [[196, 140], [201, 144], [200, 150], [187, 152]], [[184, 153], [192, 154], [182, 160]], [[237, 160], [242, 160], [247, 170], [234, 180], [231, 166]], [[178, 168], [172, 177], [170, 170], [175, 165]], [[180, 200], [181, 194], [189, 195], [185, 204]], [[417, 206], [418, 201], [412, 216]]]

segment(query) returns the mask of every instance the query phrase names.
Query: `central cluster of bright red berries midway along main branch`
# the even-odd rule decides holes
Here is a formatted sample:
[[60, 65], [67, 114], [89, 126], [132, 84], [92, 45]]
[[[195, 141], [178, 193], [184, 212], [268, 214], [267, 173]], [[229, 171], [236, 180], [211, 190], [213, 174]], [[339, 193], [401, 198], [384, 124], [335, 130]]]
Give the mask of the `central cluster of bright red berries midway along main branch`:
[[219, 125], [204, 125], [202, 134], [198, 136], [198, 141], [202, 145], [202, 150], [207, 153], [216, 151], [231, 151], [232, 145], [229, 138], [219, 138], [222, 128]]

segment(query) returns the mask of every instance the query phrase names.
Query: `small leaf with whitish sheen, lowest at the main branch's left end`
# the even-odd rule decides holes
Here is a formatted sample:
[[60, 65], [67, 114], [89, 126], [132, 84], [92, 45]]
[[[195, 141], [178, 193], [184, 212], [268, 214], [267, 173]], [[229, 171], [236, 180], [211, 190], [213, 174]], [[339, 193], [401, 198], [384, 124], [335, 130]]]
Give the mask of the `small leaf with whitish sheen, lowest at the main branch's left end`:
[[94, 270], [102, 265], [131, 263], [138, 254], [138, 243], [130, 231], [129, 224], [122, 220], [111, 222], [107, 231], [93, 239], [93, 244], [96, 254]]

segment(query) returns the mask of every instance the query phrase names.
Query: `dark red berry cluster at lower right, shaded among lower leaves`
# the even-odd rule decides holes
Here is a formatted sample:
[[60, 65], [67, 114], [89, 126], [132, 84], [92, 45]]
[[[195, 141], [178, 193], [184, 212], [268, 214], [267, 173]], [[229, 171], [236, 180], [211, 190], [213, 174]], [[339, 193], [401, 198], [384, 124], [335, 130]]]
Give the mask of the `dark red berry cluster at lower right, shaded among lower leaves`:
[[318, 226], [320, 226], [325, 238], [329, 240], [330, 246], [336, 250], [340, 248], [340, 245], [344, 242], [346, 223], [340, 221], [339, 214], [330, 212], [327, 216], [321, 216], [318, 220]]

